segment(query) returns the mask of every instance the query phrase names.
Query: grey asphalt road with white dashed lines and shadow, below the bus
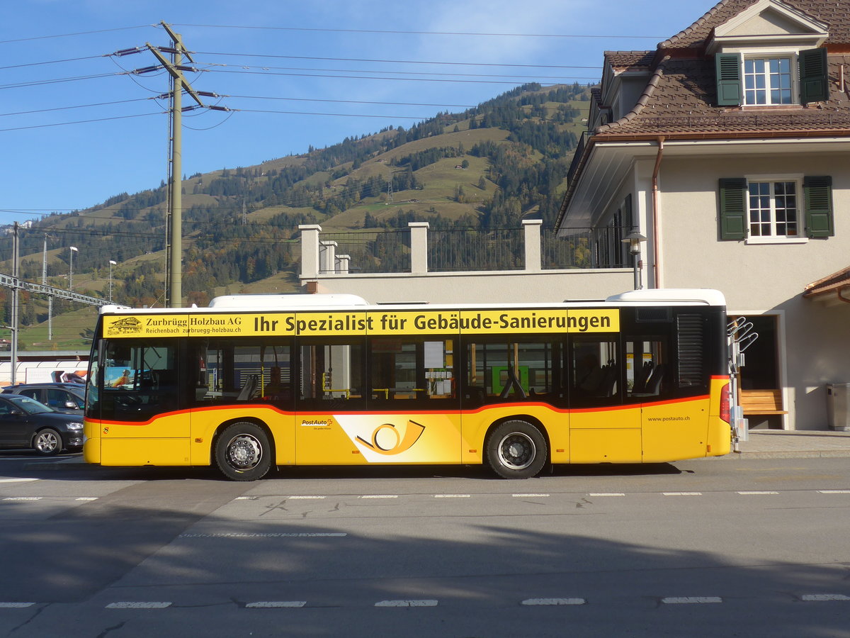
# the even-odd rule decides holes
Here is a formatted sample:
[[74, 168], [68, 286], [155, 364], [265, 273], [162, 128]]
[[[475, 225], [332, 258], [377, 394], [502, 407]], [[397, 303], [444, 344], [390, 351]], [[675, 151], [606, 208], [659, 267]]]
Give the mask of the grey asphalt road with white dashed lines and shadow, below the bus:
[[99, 468], [0, 455], [0, 635], [850, 636], [850, 460]]

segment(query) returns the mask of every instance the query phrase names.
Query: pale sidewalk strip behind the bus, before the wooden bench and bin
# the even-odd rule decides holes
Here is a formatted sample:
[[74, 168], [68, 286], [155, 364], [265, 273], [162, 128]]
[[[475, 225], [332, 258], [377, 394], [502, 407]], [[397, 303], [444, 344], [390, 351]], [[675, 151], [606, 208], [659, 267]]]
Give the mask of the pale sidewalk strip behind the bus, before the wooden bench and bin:
[[831, 430], [750, 430], [729, 458], [804, 459], [850, 457], [850, 432]]

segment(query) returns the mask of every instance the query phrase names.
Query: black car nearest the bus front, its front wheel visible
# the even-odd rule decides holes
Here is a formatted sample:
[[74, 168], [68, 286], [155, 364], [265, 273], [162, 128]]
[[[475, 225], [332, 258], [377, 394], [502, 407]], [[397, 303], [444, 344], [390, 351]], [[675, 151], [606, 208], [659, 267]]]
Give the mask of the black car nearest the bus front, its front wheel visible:
[[82, 417], [56, 412], [28, 396], [0, 394], [0, 448], [50, 456], [82, 449]]

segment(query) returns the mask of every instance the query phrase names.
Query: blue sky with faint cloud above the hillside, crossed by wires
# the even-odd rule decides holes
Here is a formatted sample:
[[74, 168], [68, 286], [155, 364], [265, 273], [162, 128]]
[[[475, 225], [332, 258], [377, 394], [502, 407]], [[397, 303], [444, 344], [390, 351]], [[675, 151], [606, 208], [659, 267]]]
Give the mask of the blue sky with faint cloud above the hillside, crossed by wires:
[[522, 83], [593, 83], [605, 50], [655, 48], [713, 3], [649, 6], [19, 0], [0, 26], [0, 225], [88, 208], [166, 179], [167, 100], [156, 96], [167, 93], [167, 74], [126, 72], [156, 65], [148, 50], [111, 55], [169, 45], [161, 21], [195, 52], [201, 71], [186, 73], [195, 90], [228, 95], [208, 100], [238, 109], [184, 114], [190, 175], [409, 127]]

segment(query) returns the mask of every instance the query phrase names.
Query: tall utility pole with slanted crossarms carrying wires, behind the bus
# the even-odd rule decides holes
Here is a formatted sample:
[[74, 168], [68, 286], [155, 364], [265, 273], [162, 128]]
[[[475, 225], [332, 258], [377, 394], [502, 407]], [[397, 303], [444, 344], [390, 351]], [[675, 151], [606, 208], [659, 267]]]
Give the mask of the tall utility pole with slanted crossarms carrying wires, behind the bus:
[[[169, 268], [169, 279], [171, 281], [170, 304], [172, 308], [183, 305], [183, 91], [190, 94], [199, 106], [204, 106], [201, 96], [195, 93], [195, 89], [183, 77], [182, 71], [197, 71], [191, 67], [183, 66], [183, 56], [186, 60], [194, 63], [189, 51], [184, 47], [179, 33], [175, 33], [171, 26], [160, 22], [162, 27], [171, 37], [172, 47], [154, 47], [150, 43], [145, 46], [150, 53], [156, 56], [160, 64], [172, 77], [171, 90], [171, 174], [169, 176], [170, 186], [170, 215], [171, 215], [171, 264]], [[168, 60], [161, 51], [172, 54], [172, 60]]]

